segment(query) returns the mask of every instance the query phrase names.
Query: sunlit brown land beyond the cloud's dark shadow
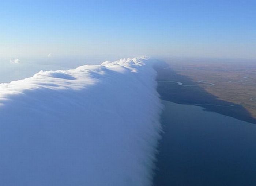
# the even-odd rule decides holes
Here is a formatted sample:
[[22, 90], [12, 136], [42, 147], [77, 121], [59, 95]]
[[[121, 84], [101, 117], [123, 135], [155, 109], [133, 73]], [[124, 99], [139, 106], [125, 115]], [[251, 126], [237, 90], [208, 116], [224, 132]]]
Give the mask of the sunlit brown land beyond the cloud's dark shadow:
[[256, 119], [256, 64], [248, 62], [168, 64], [176, 74], [188, 77], [219, 100], [243, 106]]

